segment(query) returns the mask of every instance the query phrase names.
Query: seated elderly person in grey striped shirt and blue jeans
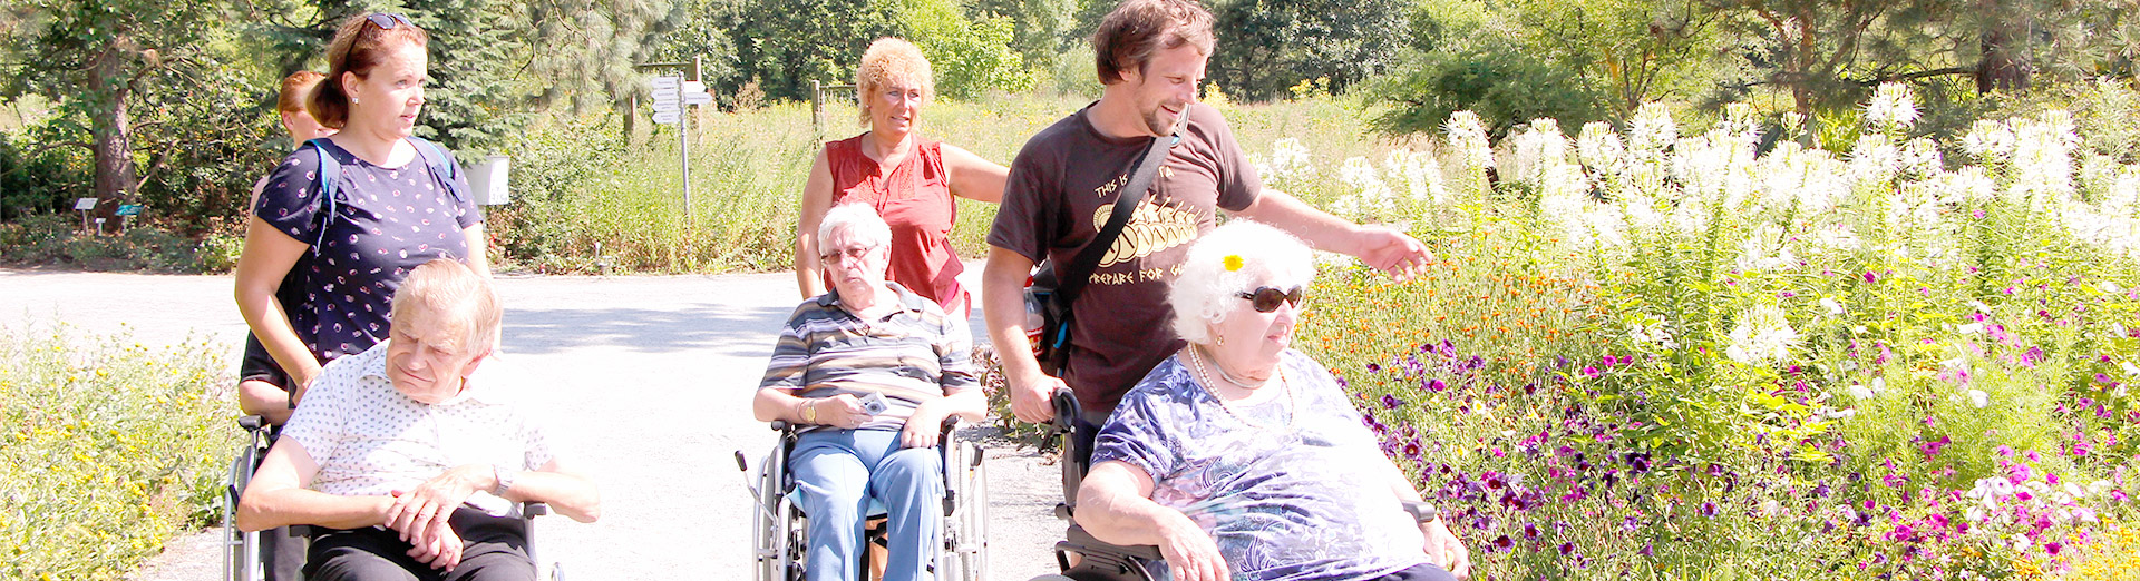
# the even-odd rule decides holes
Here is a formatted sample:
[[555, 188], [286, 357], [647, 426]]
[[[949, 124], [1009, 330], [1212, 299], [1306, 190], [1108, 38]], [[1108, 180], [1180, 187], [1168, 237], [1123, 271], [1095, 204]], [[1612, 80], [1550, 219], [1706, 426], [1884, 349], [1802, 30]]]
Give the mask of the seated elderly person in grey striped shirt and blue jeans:
[[817, 229], [832, 290], [794, 310], [751, 408], [794, 425], [785, 466], [807, 528], [807, 579], [860, 579], [862, 519], [886, 511], [886, 581], [929, 579], [944, 521], [946, 419], [987, 402], [963, 318], [886, 280], [890, 226], [839, 205]]

